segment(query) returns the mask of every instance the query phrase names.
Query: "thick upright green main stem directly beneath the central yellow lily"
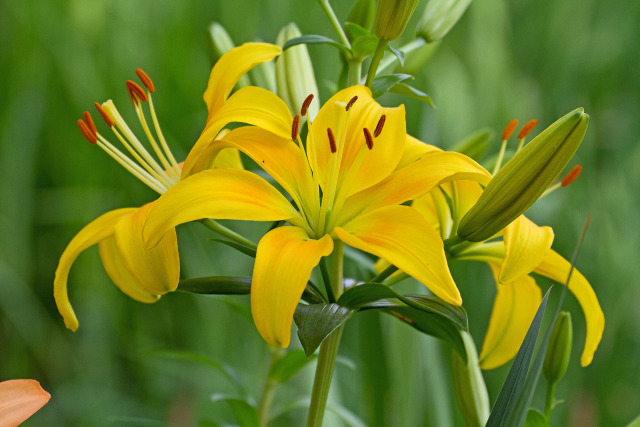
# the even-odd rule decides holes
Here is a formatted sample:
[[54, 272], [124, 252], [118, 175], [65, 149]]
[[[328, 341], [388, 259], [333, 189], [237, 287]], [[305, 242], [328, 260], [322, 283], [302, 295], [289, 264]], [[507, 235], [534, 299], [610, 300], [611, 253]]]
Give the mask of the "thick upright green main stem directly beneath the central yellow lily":
[[[335, 242], [331, 255], [331, 284], [336, 297], [339, 297], [343, 290], [343, 253], [343, 243], [340, 241]], [[324, 411], [327, 407], [327, 398], [329, 397], [329, 388], [331, 387], [331, 378], [333, 377], [333, 367], [336, 356], [338, 355], [338, 347], [340, 346], [343, 328], [344, 323], [333, 331], [331, 335], [322, 342], [322, 345], [320, 345], [316, 376], [313, 380], [313, 391], [311, 392], [307, 427], [322, 426]]]

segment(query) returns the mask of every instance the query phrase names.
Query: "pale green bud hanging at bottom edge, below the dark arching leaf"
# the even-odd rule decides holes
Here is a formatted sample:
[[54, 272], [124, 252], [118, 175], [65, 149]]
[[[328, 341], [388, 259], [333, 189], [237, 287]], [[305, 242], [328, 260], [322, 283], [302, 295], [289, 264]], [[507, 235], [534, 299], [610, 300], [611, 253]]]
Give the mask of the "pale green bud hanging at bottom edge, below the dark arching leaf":
[[478, 352], [473, 338], [461, 331], [467, 352], [467, 363], [458, 353], [453, 353], [453, 387], [458, 407], [468, 426], [483, 426], [489, 419], [489, 394], [478, 365]]

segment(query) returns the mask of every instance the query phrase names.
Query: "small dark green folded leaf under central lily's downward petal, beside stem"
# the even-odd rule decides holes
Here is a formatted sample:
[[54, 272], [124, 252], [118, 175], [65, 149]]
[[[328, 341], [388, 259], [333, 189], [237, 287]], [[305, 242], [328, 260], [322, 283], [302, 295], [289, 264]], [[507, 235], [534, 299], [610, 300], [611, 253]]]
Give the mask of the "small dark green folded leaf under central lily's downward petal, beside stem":
[[298, 338], [307, 357], [356, 311], [334, 303], [298, 305], [293, 320], [298, 325]]

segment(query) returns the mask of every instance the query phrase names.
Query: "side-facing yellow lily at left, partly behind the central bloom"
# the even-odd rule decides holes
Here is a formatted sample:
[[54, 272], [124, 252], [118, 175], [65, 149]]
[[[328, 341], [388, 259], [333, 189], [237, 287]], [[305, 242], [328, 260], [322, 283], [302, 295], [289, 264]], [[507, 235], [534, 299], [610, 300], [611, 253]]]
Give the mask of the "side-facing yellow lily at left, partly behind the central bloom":
[[[232, 49], [220, 58], [211, 70], [207, 90], [204, 93], [209, 112], [207, 126], [203, 131], [204, 138], [213, 139], [223, 135], [222, 128], [231, 122], [264, 125], [265, 122], [272, 121], [268, 111], [267, 116], [254, 114], [253, 105], [248, 101], [264, 89], [246, 88], [230, 97], [229, 94], [239, 78], [249, 69], [274, 59], [281, 52], [281, 49], [275, 45], [247, 43]], [[89, 113], [85, 112], [83, 120], [78, 121], [78, 126], [91, 143], [102, 148], [149, 188], [163, 194], [180, 179], [189, 176], [191, 166], [185, 168], [183, 164], [176, 162], [160, 130], [153, 107], [151, 97], [155, 91], [153, 82], [142, 70], [137, 70], [136, 73], [146, 87], [146, 91], [132, 81], [127, 82], [127, 90], [140, 124], [159, 161], [138, 140], [111, 100], [102, 105], [96, 103], [96, 107], [131, 157], [118, 150], [97, 131]], [[142, 109], [143, 103], [149, 105], [157, 139], [147, 123]], [[279, 132], [277, 127], [268, 128], [272, 132]], [[288, 134], [289, 129], [286, 129], [284, 135]], [[200, 141], [203, 139], [200, 138]], [[198, 144], [194, 146], [196, 152], [198, 147]], [[226, 150], [215, 163], [207, 163], [201, 167], [241, 168], [242, 163], [237, 151]], [[100, 257], [107, 274], [131, 298], [152, 303], [157, 301], [160, 295], [176, 289], [180, 279], [180, 260], [175, 230], [170, 230], [153, 249], [147, 249], [142, 241], [142, 226], [153, 203], [141, 208], [124, 208], [107, 212], [89, 223], [71, 240], [60, 257], [54, 279], [54, 297], [67, 328], [73, 331], [78, 328], [78, 320], [67, 294], [69, 270], [78, 255], [96, 243], [99, 245]]]

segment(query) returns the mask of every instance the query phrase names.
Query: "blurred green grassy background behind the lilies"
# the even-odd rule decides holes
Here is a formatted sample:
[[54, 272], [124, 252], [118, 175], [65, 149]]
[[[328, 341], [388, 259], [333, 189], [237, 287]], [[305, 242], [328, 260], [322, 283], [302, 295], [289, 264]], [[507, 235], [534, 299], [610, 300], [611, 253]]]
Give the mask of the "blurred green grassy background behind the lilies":
[[[352, 2], [334, 3], [344, 19]], [[71, 271], [78, 332], [64, 328], [52, 297], [58, 258], [75, 233], [110, 209], [155, 197], [88, 144], [75, 121], [109, 98], [134, 120], [124, 82], [143, 68], [156, 85], [165, 135], [183, 158], [206, 117], [212, 21], [237, 43], [274, 41], [291, 21], [304, 34], [335, 37], [312, 0], [0, 2], [0, 380], [34, 378], [53, 396], [25, 425], [233, 423], [228, 407], [210, 400], [237, 395], [223, 375], [152, 352], [158, 349], [225, 363], [250, 396], [260, 395], [269, 351], [244, 317], [248, 298], [174, 293], [154, 305], [136, 303], [111, 284], [96, 248]], [[584, 320], [569, 298], [577, 338], [556, 394], [565, 402], [554, 411], [554, 425], [625, 425], [640, 412], [638, 22], [640, 3], [632, 0], [477, 1], [417, 75], [415, 86], [438, 109], [383, 99], [405, 102], [408, 130], [445, 148], [484, 126], [497, 135], [512, 118], [537, 118], [540, 131], [578, 106], [591, 116], [574, 158], [582, 176], [530, 212], [555, 229], [554, 248], [565, 257], [593, 214], [578, 268], [607, 322], [592, 365], [579, 367]], [[340, 72], [338, 55], [326, 46], [310, 52], [326, 100]], [[497, 149], [497, 136], [492, 143]], [[267, 225], [242, 227], [257, 236]], [[202, 227], [179, 228], [183, 277], [249, 273], [250, 259], [209, 236]], [[465, 264], [453, 272], [480, 346], [495, 293], [489, 269]], [[439, 342], [362, 313], [348, 323], [340, 351], [347, 363], [336, 368], [330, 399], [366, 425], [462, 424], [448, 380], [449, 349]], [[486, 372], [492, 399], [507, 369]], [[313, 364], [278, 389], [274, 413], [308, 396], [312, 375]], [[302, 425], [305, 414], [299, 408], [273, 425]], [[326, 421], [342, 425], [333, 415]]]

